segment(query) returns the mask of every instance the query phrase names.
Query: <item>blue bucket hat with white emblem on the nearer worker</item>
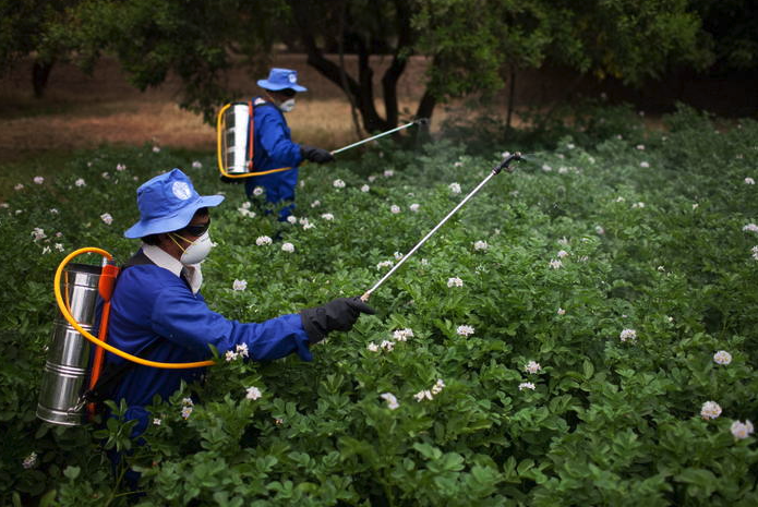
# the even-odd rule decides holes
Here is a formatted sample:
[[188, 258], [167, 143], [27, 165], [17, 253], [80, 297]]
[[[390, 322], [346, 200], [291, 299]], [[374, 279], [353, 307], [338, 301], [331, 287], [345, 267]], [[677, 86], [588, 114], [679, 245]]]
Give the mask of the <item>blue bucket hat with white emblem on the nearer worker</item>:
[[180, 169], [156, 176], [136, 191], [140, 221], [123, 233], [127, 238], [179, 230], [192, 221], [195, 212], [221, 204], [224, 195], [200, 195]]

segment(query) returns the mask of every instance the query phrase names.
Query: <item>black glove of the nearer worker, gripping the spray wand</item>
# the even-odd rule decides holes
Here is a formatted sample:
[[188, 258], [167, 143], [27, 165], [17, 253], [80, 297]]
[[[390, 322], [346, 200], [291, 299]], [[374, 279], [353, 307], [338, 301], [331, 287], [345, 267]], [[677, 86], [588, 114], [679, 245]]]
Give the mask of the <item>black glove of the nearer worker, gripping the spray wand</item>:
[[317, 343], [329, 331], [350, 330], [361, 313], [373, 315], [376, 311], [360, 298], [338, 298], [323, 306], [303, 310], [300, 319], [310, 342]]

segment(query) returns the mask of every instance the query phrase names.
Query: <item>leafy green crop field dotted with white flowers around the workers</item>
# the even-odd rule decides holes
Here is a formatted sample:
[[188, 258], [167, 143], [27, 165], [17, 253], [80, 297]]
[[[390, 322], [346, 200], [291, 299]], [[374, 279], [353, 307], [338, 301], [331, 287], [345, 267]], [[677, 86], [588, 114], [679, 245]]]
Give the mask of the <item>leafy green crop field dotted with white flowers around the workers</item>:
[[[210, 153], [104, 146], [36, 182], [19, 162], [0, 208], [0, 504], [758, 504], [758, 123], [717, 129], [689, 109], [660, 131], [593, 120], [306, 166], [284, 224], [221, 183]], [[226, 194], [203, 293], [257, 322], [365, 292], [506, 150], [529, 160], [313, 362], [222, 354], [202, 385], [156, 400], [142, 443], [118, 419], [35, 418], [53, 273], [82, 246], [125, 261], [148, 178], [181, 167]], [[113, 447], [129, 450], [117, 470]]]

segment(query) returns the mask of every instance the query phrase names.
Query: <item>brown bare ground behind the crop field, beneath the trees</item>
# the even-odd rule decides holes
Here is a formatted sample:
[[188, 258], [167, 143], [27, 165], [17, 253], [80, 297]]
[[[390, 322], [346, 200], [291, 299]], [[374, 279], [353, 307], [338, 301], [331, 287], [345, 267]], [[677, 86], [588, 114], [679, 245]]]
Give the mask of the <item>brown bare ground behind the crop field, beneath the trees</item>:
[[[309, 87], [288, 114], [297, 141], [334, 149], [357, 140], [349, 102], [337, 86], [308, 67], [303, 56], [282, 55], [274, 64], [297, 69], [299, 81]], [[419, 59], [400, 83], [401, 107], [408, 111], [423, 92], [422, 73]], [[177, 106], [180, 83], [176, 77], [141, 93], [113, 60], [101, 60], [92, 76], [61, 64], [53, 69], [45, 97], [35, 99], [29, 75], [28, 65], [20, 65], [0, 80], [0, 164], [103, 143], [215, 150], [215, 128]], [[255, 81], [261, 77], [265, 75], [237, 72], [230, 82], [249, 97], [260, 93]]]

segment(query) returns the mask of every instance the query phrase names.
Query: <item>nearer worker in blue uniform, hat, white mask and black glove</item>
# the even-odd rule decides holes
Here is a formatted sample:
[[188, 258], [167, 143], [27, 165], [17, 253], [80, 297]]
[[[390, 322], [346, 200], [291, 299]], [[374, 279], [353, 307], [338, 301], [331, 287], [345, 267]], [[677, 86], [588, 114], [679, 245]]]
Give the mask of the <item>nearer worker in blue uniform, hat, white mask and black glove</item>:
[[[122, 268], [111, 299], [108, 341], [144, 359], [183, 363], [246, 346], [253, 361], [298, 354], [311, 361], [311, 346], [334, 330], [349, 330], [361, 313], [374, 313], [359, 298], [340, 298], [299, 314], [262, 323], [230, 321], [212, 311], [200, 292], [201, 263], [210, 242], [208, 208], [221, 195], [201, 196], [179, 169], [163, 173], [137, 190], [140, 221], [124, 232], [142, 246]], [[109, 367], [125, 361], [108, 354]], [[145, 407], [159, 395], [167, 399], [181, 381], [198, 378], [202, 369], [165, 370], [132, 363], [119, 379], [112, 399], [127, 401], [127, 420], [136, 420], [133, 435], [144, 432]]]

